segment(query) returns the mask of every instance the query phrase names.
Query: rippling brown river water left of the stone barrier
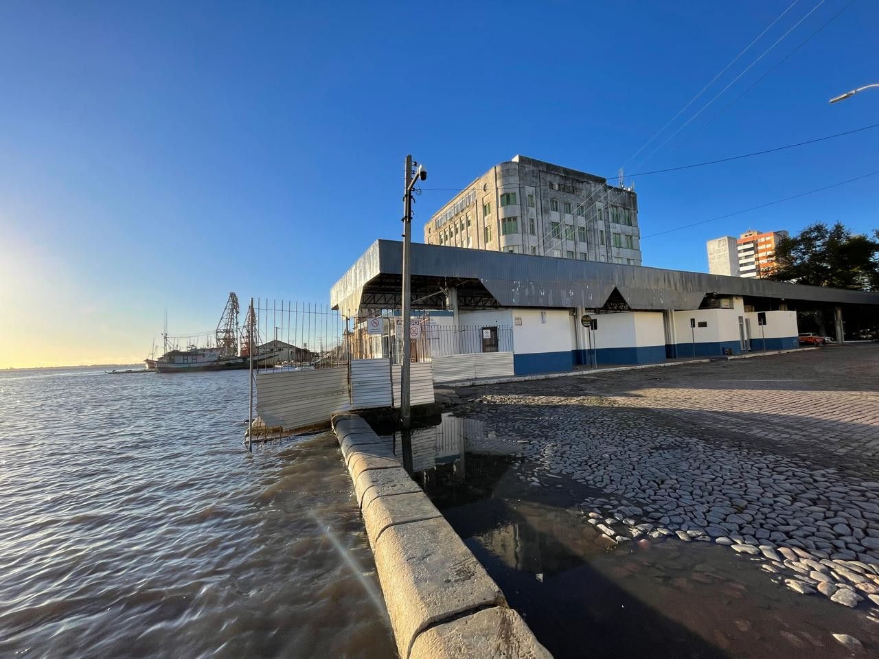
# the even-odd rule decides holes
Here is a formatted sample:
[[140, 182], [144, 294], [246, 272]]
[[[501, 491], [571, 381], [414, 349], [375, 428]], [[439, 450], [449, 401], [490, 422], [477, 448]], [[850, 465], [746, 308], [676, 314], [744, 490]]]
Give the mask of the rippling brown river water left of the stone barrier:
[[336, 439], [246, 424], [246, 372], [0, 373], [0, 656], [395, 656]]

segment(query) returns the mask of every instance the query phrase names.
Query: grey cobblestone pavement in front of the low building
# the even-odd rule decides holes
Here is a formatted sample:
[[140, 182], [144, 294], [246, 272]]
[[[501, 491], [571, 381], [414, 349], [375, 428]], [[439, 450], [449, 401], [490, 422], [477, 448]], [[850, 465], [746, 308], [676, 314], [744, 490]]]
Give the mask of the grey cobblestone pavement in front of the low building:
[[458, 390], [614, 543], [713, 541], [879, 619], [879, 345]]

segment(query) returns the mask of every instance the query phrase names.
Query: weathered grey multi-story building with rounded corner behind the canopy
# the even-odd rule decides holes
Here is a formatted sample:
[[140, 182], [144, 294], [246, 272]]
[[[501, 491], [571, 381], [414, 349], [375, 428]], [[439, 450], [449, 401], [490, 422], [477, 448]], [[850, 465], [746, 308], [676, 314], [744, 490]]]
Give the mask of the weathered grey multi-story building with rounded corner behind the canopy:
[[526, 156], [495, 165], [442, 206], [425, 243], [641, 264], [633, 189]]

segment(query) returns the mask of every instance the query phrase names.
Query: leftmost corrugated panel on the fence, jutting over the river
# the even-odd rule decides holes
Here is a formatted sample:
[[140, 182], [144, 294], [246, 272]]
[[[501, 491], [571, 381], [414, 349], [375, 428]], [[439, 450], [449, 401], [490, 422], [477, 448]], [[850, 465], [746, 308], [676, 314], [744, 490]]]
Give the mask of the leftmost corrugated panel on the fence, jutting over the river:
[[295, 430], [351, 409], [348, 367], [257, 373], [257, 412], [269, 427]]

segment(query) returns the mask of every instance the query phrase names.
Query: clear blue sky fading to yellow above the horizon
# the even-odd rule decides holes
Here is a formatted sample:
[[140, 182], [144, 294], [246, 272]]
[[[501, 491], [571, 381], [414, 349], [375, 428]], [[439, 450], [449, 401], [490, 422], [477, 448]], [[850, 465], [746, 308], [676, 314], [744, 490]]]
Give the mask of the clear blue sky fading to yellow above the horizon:
[[[631, 159], [792, 2], [4, 3], [0, 367], [142, 358], [165, 306], [211, 329], [229, 291], [326, 301], [400, 234], [406, 153], [430, 172], [420, 240], [441, 189], [517, 153], [611, 176], [876, 123], [879, 90], [827, 104], [879, 82], [879, 5], [857, 0], [693, 136], [849, 4], [800, 0]], [[877, 170], [877, 146], [636, 178], [644, 264], [704, 271], [705, 241], [747, 228], [876, 228], [871, 177], [648, 237]]]

